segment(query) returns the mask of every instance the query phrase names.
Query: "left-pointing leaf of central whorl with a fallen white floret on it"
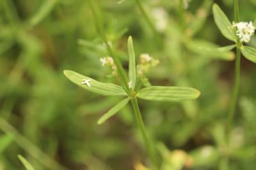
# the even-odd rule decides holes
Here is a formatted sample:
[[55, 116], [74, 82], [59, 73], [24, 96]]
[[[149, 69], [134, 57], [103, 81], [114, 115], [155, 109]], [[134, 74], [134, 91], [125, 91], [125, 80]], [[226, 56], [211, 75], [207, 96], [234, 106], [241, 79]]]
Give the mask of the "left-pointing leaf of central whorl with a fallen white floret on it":
[[[65, 70], [64, 74], [70, 81], [74, 82], [75, 84], [77, 84], [78, 86], [81, 86], [84, 89], [87, 89], [88, 91], [92, 91], [94, 93], [99, 93], [100, 95], [106, 95], [106, 96], [108, 95], [125, 96], [126, 95], [124, 89], [121, 86], [118, 86], [116, 84], [95, 81], [90, 77], [86, 77], [84, 75], [81, 75], [79, 73], [76, 73], [70, 70]], [[82, 84], [83, 81], [88, 81], [88, 83]]]

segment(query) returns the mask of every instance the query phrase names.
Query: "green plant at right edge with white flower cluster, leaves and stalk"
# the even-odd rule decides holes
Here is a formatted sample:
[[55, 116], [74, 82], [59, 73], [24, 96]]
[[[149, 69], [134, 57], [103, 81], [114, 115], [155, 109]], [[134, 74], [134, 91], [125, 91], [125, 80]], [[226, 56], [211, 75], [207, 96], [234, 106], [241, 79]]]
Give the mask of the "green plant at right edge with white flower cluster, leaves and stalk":
[[[243, 44], [248, 43], [250, 41], [250, 36], [253, 35], [255, 27], [253, 26], [252, 22], [240, 22], [239, 4], [237, 0], [234, 0], [235, 21], [232, 24], [228, 20], [225, 13], [218, 6], [218, 4], [213, 4], [212, 12], [214, 15], [214, 21], [216, 22], [216, 25], [220, 29], [221, 34], [225, 36], [225, 38], [227, 38], [228, 40], [231, 40], [236, 43], [235, 45], [228, 45], [225, 47], [220, 47], [218, 49], [207, 49], [200, 47], [200, 49], [207, 50], [209, 52], [227, 52], [236, 47], [236, 68], [234, 72], [235, 82], [227, 121], [227, 128], [229, 129], [230, 125], [232, 125], [234, 113], [236, 111], [237, 97], [239, 93], [241, 52], [246, 59], [252, 61], [253, 63], [256, 63], [256, 49], [253, 47], [248, 47]], [[239, 26], [239, 24], [242, 24], [242, 26]], [[244, 37], [246, 37], [246, 39], [244, 39]]]

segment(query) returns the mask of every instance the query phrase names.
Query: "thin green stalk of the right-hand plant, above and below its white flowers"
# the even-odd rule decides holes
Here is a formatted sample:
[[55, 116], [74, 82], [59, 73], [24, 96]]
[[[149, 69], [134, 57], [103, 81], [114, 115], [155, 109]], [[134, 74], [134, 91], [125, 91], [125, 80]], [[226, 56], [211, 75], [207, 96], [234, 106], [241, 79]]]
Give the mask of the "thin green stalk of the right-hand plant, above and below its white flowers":
[[[239, 4], [238, 0], [234, 0], [234, 17], [235, 22], [239, 22]], [[228, 120], [227, 120], [227, 136], [230, 133], [230, 127], [232, 126], [234, 120], [234, 114], [236, 112], [237, 98], [239, 94], [239, 84], [240, 84], [240, 65], [241, 65], [241, 42], [237, 38], [237, 48], [236, 48], [236, 66], [235, 66], [235, 82], [234, 88], [232, 92], [232, 98], [230, 102], [230, 108], [228, 112]]]

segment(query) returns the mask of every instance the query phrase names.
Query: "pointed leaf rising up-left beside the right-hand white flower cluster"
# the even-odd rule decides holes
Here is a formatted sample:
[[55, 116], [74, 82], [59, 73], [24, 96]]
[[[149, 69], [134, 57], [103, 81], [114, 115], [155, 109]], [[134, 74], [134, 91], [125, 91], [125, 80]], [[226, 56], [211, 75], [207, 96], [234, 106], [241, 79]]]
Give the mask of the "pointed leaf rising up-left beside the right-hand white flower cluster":
[[212, 12], [214, 16], [214, 21], [221, 31], [221, 34], [225, 36], [228, 40], [236, 42], [236, 35], [232, 29], [232, 24], [228, 20], [225, 13], [221, 10], [218, 4], [213, 4]]

